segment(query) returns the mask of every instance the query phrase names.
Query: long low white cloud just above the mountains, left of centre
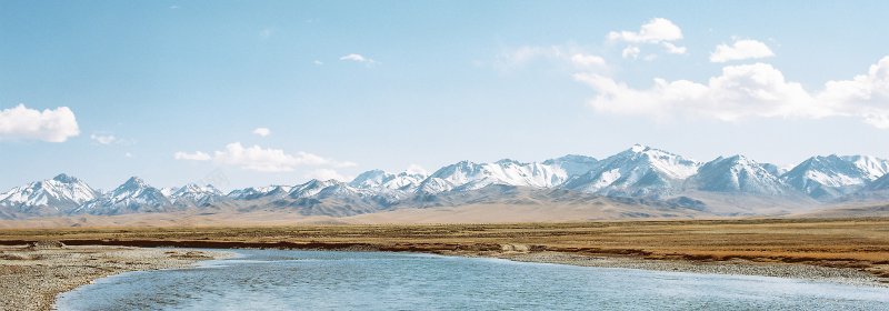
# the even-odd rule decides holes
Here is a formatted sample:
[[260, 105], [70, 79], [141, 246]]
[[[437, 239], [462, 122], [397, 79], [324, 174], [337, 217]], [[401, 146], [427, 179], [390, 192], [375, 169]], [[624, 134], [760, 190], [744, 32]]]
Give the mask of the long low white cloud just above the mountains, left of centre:
[[226, 144], [226, 149], [214, 151], [212, 156], [196, 151], [192, 153], [176, 152], [177, 160], [210, 161], [218, 164], [234, 165], [244, 170], [258, 172], [289, 172], [299, 165], [350, 168], [354, 162], [336, 161], [308, 152], [287, 153], [281, 149], [262, 148], [259, 146], [243, 147], [240, 142]]

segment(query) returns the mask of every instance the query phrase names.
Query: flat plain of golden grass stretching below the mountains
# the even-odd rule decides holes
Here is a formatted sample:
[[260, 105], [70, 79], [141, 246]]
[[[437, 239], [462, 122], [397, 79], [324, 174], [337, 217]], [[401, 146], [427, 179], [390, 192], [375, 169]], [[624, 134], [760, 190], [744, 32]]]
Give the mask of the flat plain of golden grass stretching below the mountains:
[[[384, 250], [527, 244], [581, 254], [745, 259], [858, 268], [889, 277], [889, 219], [746, 219], [515, 224], [287, 225], [0, 230], [0, 241], [114, 240], [361, 243]], [[482, 248], [486, 249], [486, 248]], [[490, 249], [490, 248], [487, 248]]]

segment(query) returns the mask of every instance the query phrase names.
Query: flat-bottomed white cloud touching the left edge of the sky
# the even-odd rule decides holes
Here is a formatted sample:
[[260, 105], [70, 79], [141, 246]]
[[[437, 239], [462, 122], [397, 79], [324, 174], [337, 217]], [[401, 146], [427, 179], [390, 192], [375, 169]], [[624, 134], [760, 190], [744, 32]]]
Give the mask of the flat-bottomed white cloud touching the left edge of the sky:
[[0, 110], [0, 139], [63, 142], [78, 134], [77, 119], [68, 107], [39, 111], [19, 104]]

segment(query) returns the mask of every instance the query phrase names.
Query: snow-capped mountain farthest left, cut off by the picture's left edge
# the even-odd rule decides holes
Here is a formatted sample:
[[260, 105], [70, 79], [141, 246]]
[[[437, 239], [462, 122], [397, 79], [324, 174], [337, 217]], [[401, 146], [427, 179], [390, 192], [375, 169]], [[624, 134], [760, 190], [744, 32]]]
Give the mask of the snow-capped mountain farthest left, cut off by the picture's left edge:
[[0, 194], [0, 207], [21, 213], [64, 213], [96, 199], [97, 195], [99, 192], [86, 182], [67, 174], [59, 174]]

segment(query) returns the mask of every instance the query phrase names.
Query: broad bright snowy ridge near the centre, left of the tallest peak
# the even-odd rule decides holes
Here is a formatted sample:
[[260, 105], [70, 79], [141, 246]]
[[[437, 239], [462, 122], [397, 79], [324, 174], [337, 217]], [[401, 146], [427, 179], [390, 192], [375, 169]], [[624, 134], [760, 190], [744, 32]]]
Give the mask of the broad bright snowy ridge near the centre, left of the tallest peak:
[[490, 184], [552, 188], [568, 179], [562, 169], [538, 162], [521, 163], [500, 160], [493, 163], [461, 161], [439, 169], [427, 178], [417, 191], [441, 193], [446, 191], [478, 190]]

